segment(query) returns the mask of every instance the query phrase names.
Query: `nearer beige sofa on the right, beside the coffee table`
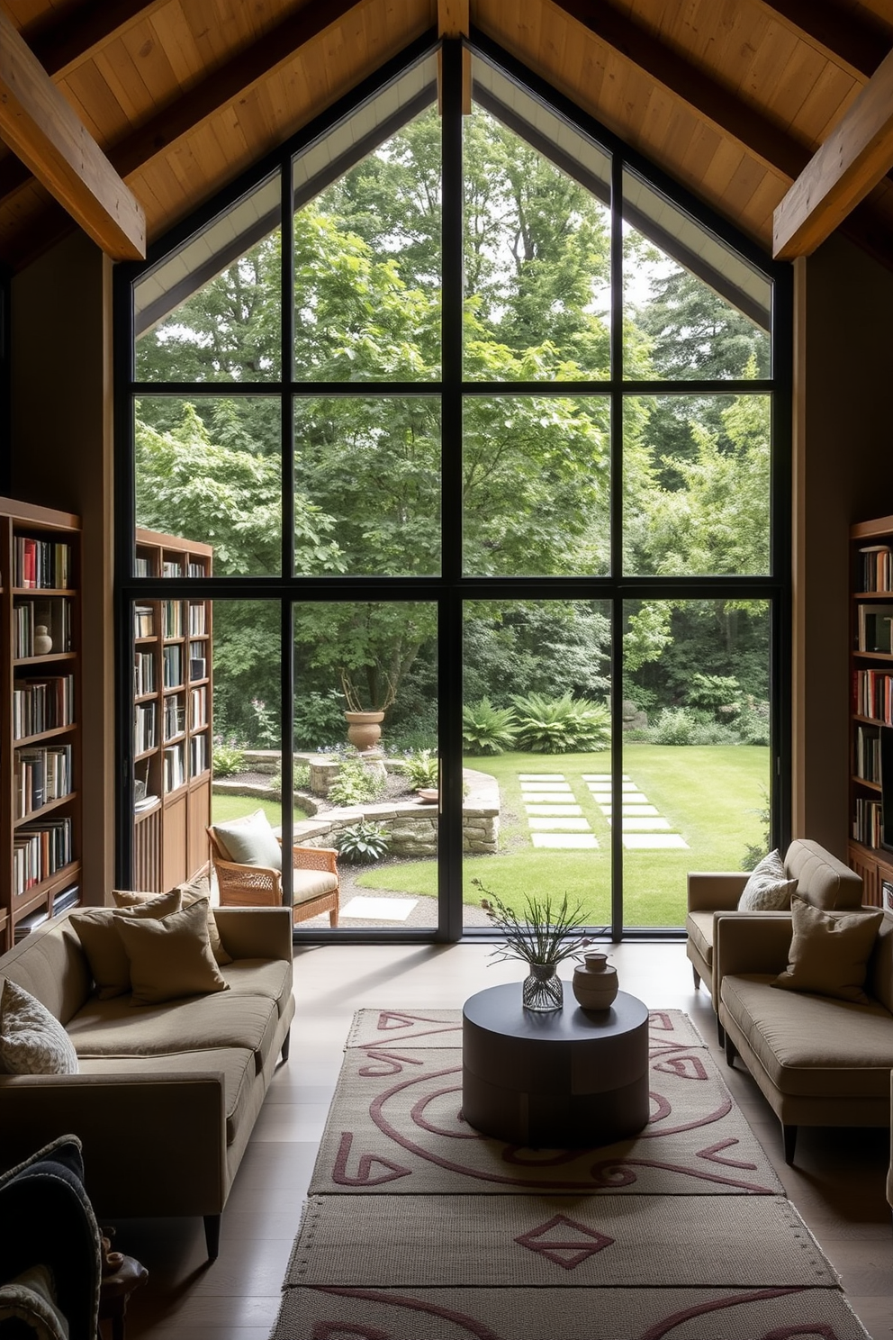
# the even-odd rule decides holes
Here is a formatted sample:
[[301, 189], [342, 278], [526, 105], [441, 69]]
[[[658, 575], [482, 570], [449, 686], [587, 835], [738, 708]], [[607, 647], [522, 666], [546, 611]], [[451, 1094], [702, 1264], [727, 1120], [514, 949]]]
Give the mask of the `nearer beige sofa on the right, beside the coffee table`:
[[868, 962], [868, 1004], [773, 988], [791, 931], [783, 917], [720, 917], [714, 973], [726, 1059], [740, 1056], [782, 1123], [787, 1163], [799, 1126], [889, 1126], [893, 1069], [893, 918]]

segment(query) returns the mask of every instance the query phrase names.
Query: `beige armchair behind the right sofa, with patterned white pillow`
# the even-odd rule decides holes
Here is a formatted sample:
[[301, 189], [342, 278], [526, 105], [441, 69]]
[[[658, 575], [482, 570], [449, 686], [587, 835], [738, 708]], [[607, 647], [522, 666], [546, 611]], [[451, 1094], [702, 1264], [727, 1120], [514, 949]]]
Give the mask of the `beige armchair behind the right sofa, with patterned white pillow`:
[[[862, 900], [862, 879], [817, 842], [795, 838], [785, 854], [785, 874], [797, 879], [797, 892], [814, 907], [834, 911], [858, 907]], [[714, 1009], [718, 1009], [714, 972], [714, 945], [716, 921], [736, 911], [738, 899], [748, 880], [747, 871], [722, 874], [692, 872], [688, 875], [688, 913], [685, 917], [685, 954], [692, 966], [695, 990], [707, 982]], [[790, 913], [747, 913], [748, 917], [781, 918], [790, 923]], [[782, 965], [783, 966], [783, 965]], [[722, 1034], [720, 1034], [722, 1040]]]

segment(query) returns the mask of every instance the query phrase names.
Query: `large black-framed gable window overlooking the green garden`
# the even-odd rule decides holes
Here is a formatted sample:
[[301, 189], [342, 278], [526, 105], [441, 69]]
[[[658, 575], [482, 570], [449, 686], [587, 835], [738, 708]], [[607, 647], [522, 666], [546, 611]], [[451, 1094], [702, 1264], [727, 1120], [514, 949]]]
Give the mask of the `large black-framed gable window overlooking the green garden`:
[[[205, 698], [138, 695], [155, 742], [122, 709], [122, 878], [149, 792], [186, 797], [186, 867], [258, 808], [340, 848], [303, 935], [455, 938], [482, 887], [672, 930], [687, 870], [785, 824], [782, 281], [509, 58], [471, 70], [463, 117], [455, 44], [440, 96], [398, 62], [122, 281], [122, 627], [213, 607]], [[181, 693], [208, 740], [170, 787]]]

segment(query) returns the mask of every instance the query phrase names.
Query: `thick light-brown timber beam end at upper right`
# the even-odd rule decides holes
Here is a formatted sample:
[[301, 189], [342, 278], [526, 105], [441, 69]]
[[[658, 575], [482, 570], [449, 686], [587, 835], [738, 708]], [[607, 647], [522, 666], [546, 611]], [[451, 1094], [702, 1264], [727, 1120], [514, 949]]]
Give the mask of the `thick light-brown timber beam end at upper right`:
[[775, 210], [773, 253], [809, 256], [893, 168], [893, 51]]

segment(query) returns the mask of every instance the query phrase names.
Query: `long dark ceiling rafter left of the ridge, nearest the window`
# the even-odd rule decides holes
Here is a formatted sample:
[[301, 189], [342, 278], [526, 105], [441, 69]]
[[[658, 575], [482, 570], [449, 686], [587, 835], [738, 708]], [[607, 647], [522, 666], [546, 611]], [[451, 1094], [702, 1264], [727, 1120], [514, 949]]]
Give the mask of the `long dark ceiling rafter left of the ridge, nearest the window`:
[[230, 102], [242, 96], [260, 79], [285, 64], [295, 52], [337, 23], [357, 0], [309, 0], [264, 38], [226, 62], [208, 79], [174, 99], [143, 126], [114, 146], [110, 158], [122, 177], [130, 177], [143, 163], [189, 134]]

